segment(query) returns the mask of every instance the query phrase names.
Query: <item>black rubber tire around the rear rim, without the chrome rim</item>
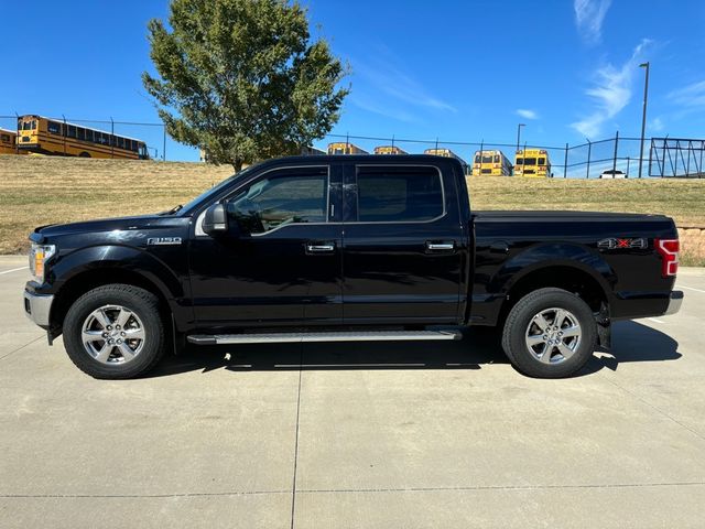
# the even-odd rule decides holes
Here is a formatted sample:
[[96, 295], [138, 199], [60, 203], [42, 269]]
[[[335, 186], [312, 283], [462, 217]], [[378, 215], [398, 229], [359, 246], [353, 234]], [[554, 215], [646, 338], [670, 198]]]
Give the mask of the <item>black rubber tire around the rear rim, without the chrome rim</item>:
[[[546, 354], [544, 353], [540, 355], [541, 359], [539, 359], [538, 355], [533, 354], [527, 345], [527, 339], [534, 337], [527, 338], [529, 325], [534, 321], [534, 316], [541, 314], [542, 311], [550, 311], [554, 307], [568, 311], [570, 316], [577, 321], [579, 324], [579, 341], [574, 344], [575, 350], [572, 356], [566, 355], [567, 357], [564, 357], [557, 346], [546, 346], [544, 350], [547, 350], [549, 356], [544, 356]], [[553, 323], [555, 323], [555, 320]], [[538, 330], [535, 326], [532, 328]], [[557, 332], [554, 331], [554, 333]], [[566, 332], [565, 334], [568, 333]], [[557, 338], [557, 334], [550, 337], [561, 339], [562, 346], [565, 345], [563, 341], [570, 341], [570, 345], [573, 345], [573, 338]], [[519, 300], [509, 312], [502, 333], [502, 348], [509, 361], [519, 371], [535, 378], [565, 378], [574, 375], [593, 356], [596, 343], [595, 319], [587, 303], [571, 292], [554, 288], [535, 290]], [[539, 344], [534, 347], [541, 349], [542, 345]]]

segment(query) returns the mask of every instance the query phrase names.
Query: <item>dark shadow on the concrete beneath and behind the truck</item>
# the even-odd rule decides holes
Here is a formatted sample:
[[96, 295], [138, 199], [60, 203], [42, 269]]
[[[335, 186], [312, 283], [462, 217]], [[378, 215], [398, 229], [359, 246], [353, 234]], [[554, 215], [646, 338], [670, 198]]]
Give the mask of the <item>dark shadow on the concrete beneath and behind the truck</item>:
[[[148, 378], [188, 371], [285, 371], [376, 369], [480, 369], [508, 364], [499, 335], [488, 328], [468, 328], [455, 342], [351, 342], [311, 344], [258, 344], [188, 346], [170, 356]], [[675, 360], [682, 355], [677, 342], [637, 322], [618, 322], [612, 331], [611, 353], [597, 352], [577, 376], [603, 368], [617, 370], [630, 361]]]

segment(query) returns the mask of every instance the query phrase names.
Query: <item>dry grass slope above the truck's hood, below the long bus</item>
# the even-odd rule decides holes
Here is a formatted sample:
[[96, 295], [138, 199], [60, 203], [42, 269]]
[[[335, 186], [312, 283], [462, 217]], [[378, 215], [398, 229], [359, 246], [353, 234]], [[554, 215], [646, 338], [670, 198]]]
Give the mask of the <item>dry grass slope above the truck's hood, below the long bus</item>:
[[35, 226], [139, 215], [183, 204], [232, 174], [199, 163], [0, 156], [0, 253]]

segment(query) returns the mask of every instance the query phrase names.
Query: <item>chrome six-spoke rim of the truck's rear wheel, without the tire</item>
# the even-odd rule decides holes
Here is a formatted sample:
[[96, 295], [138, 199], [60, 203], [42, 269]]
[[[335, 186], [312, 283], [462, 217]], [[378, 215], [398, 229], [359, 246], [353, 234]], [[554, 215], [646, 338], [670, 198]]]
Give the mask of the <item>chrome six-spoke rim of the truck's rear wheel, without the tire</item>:
[[565, 309], [544, 309], [527, 326], [529, 352], [543, 364], [558, 364], [575, 354], [581, 345], [581, 324]]

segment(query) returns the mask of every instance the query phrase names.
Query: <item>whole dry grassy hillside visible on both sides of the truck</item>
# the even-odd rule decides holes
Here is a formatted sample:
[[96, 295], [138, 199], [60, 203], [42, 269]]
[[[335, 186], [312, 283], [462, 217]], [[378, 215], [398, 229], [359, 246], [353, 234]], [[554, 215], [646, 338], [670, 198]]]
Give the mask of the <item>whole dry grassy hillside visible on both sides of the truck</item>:
[[[166, 209], [231, 173], [229, 165], [203, 163], [0, 155], [0, 253], [24, 251], [34, 226]], [[662, 213], [679, 226], [705, 228], [699, 180], [467, 182], [476, 209]], [[695, 250], [686, 248], [687, 262], [705, 264], [705, 250]]]

